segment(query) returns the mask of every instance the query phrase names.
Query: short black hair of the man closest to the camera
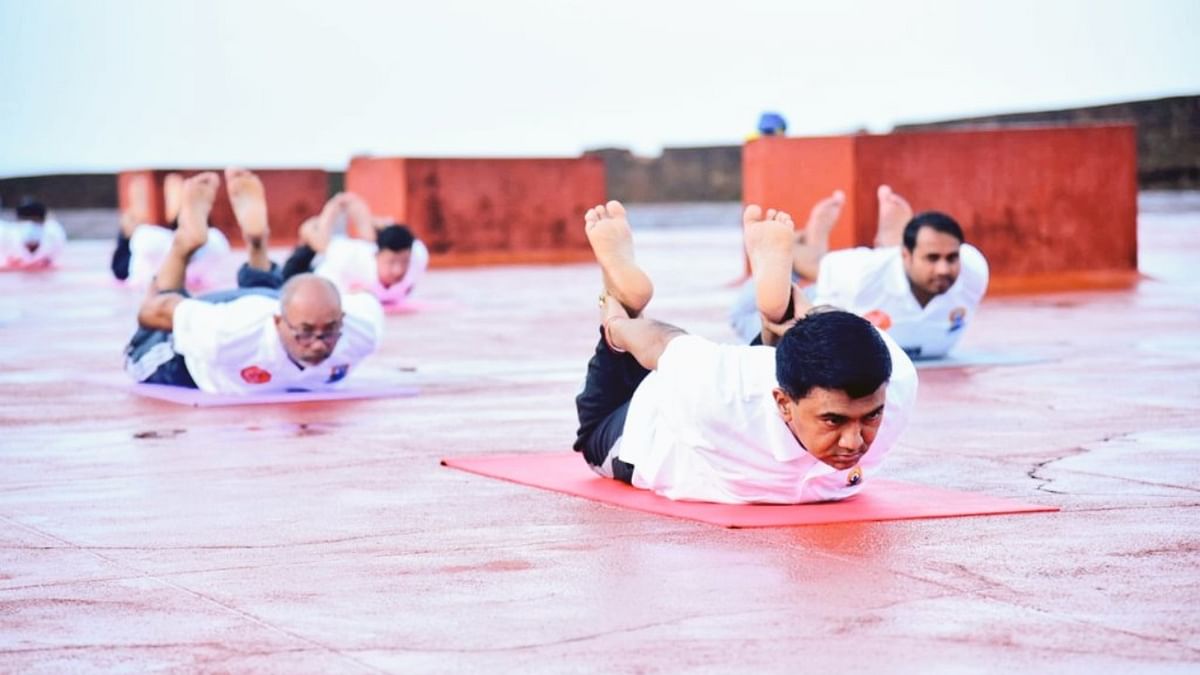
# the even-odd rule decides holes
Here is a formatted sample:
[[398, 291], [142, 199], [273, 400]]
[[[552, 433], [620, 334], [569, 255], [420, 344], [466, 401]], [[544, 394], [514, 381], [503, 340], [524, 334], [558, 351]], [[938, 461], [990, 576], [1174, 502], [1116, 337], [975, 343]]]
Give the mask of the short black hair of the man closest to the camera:
[[883, 338], [869, 321], [847, 311], [810, 313], [775, 346], [775, 380], [793, 400], [815, 387], [862, 399], [890, 377], [892, 354]]

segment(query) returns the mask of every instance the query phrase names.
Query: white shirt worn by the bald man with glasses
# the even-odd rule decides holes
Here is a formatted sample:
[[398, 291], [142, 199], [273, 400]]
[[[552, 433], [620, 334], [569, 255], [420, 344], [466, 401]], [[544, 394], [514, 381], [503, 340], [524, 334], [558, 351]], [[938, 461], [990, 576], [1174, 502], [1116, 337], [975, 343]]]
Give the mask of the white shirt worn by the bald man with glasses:
[[172, 340], [196, 386], [211, 394], [329, 389], [379, 346], [383, 309], [366, 293], [342, 295], [346, 319], [334, 352], [319, 365], [298, 365], [275, 328], [280, 301], [246, 295], [230, 303], [184, 300]]

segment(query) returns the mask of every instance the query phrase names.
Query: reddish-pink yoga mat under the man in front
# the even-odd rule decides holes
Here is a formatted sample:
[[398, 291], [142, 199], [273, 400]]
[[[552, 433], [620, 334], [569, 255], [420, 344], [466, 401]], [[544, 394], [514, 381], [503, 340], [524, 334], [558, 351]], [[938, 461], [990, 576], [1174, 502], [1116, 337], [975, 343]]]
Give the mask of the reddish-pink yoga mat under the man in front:
[[862, 492], [841, 502], [796, 506], [674, 502], [596, 476], [578, 453], [449, 458], [442, 460], [442, 464], [606, 504], [725, 527], [782, 527], [1058, 510], [1057, 507], [881, 478], [872, 478]]

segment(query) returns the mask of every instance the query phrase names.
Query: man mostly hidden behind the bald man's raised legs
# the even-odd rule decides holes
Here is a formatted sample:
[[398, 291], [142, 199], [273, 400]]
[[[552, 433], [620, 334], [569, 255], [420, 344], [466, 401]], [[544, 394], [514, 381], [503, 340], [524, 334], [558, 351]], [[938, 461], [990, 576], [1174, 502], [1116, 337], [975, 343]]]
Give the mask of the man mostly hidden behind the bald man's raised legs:
[[[137, 174], [130, 183], [130, 207], [121, 213], [110, 268], [118, 281], [133, 288], [148, 288], [155, 273], [170, 251], [179, 227], [179, 208], [184, 177], [168, 173], [162, 181], [167, 225], [154, 225], [150, 217], [150, 191], [146, 177]], [[220, 275], [229, 257], [229, 240], [215, 227], [208, 239], [187, 263], [187, 286], [210, 288], [220, 283]]]

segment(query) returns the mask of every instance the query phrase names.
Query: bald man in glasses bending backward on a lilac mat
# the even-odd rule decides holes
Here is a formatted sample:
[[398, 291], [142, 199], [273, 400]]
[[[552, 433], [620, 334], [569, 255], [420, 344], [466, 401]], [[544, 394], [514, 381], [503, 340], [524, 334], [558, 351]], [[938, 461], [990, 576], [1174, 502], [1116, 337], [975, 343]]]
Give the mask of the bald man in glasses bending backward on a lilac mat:
[[[367, 293], [342, 297], [312, 274], [282, 283], [266, 255], [266, 198], [257, 175], [226, 169], [226, 187], [250, 259], [238, 288], [192, 299], [185, 270], [208, 237], [220, 185], [206, 172], [184, 181], [179, 228], [138, 311], [125, 350], [137, 382], [193, 387], [215, 394], [334, 387], [376, 351], [383, 310]], [[282, 288], [281, 288], [282, 286]]]

